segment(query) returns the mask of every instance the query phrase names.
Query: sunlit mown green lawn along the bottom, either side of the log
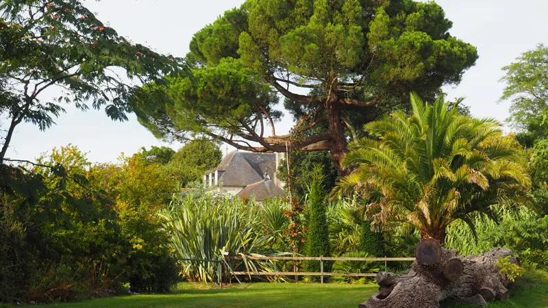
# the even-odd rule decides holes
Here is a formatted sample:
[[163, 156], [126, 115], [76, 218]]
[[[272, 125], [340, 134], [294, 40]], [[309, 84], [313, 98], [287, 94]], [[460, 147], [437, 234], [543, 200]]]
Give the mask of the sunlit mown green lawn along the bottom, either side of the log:
[[[182, 283], [172, 294], [99, 298], [82, 303], [40, 305], [57, 307], [358, 307], [375, 293], [377, 285], [329, 283], [253, 283], [223, 290], [211, 285]], [[548, 307], [548, 273], [527, 274], [513, 287], [510, 299], [489, 307]], [[36, 307], [36, 306], [21, 306]]]

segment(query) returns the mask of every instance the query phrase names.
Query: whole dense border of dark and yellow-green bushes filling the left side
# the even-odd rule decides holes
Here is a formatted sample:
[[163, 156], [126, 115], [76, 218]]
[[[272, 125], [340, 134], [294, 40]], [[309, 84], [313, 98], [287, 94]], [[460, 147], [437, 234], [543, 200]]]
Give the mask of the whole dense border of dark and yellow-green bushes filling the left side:
[[179, 280], [155, 214], [170, 190], [159, 168], [138, 159], [98, 168], [85, 156], [66, 146], [32, 171], [2, 166], [1, 302], [108, 296], [128, 282], [166, 292]]

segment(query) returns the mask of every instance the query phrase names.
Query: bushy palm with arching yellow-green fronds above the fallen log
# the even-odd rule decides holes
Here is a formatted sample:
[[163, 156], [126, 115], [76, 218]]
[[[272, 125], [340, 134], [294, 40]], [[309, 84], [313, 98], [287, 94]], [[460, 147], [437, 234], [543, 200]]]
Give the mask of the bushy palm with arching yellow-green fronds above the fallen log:
[[343, 160], [355, 169], [337, 189], [364, 194], [375, 222], [408, 221], [443, 244], [453, 220], [471, 222], [474, 211], [490, 214], [501, 199], [525, 196], [531, 181], [519, 149], [486, 142], [501, 137], [497, 121], [416, 94], [411, 104], [412, 116], [398, 111], [365, 125], [372, 138], [353, 142]]

